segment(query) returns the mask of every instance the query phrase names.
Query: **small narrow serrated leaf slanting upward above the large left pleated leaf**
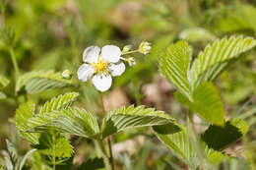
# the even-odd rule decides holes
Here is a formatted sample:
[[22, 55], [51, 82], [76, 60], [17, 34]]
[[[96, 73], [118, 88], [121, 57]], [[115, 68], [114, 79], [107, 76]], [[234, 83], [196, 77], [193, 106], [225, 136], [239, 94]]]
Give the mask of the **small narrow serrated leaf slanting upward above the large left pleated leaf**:
[[78, 92], [69, 92], [58, 95], [57, 97], [52, 98], [50, 101], [45, 102], [40, 108], [39, 114], [67, 108], [76, 100], [78, 95]]

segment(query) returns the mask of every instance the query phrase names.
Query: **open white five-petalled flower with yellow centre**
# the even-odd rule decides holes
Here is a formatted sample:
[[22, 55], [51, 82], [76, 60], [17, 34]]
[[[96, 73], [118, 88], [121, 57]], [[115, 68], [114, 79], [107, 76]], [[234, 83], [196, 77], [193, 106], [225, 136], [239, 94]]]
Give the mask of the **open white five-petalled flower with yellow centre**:
[[93, 77], [93, 84], [99, 91], [109, 89], [112, 84], [112, 78], [123, 74], [125, 65], [120, 62], [121, 50], [114, 45], [105, 45], [101, 48], [90, 46], [83, 53], [85, 62], [78, 69], [78, 79], [87, 82]]

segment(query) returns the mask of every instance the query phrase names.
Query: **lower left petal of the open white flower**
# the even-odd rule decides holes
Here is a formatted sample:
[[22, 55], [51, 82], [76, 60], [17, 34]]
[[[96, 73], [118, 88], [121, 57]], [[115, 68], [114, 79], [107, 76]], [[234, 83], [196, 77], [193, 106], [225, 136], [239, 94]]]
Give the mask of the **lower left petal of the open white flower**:
[[95, 73], [95, 69], [93, 68], [92, 65], [83, 64], [78, 69], [78, 72], [77, 72], [78, 79], [83, 82], [87, 82], [93, 76], [94, 73]]

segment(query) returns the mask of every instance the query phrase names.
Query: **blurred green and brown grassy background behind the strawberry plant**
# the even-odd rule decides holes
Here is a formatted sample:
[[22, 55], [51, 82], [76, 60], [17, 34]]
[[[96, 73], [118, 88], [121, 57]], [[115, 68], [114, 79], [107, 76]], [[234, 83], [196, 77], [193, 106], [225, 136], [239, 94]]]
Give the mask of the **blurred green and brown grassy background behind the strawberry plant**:
[[[75, 78], [83, 50], [90, 45], [115, 44], [122, 48], [131, 44], [136, 48], [142, 40], [151, 42], [152, 52], [147, 56], [134, 55], [137, 65], [115, 78], [111, 90], [104, 93], [105, 103], [108, 109], [129, 104], [155, 106], [182, 122], [184, 110], [173, 98], [174, 88], [158, 72], [161, 49], [186, 39], [196, 57], [217, 38], [230, 34], [256, 37], [256, 0], [1, 0], [0, 25], [0, 75], [10, 80], [14, 78], [14, 69], [5, 36], [12, 30], [13, 48], [22, 73], [69, 69]], [[250, 124], [245, 140], [227, 150], [241, 158], [227, 162], [221, 169], [245, 169], [245, 164], [250, 164], [248, 169], [256, 168], [255, 57], [255, 51], [247, 53], [216, 81], [222, 91], [226, 116], [243, 114]], [[77, 90], [81, 95], [76, 104], [98, 112], [95, 87], [77, 84], [26, 97], [40, 104], [59, 93]], [[17, 144], [21, 154], [28, 150], [29, 143], [19, 137], [12, 119], [23, 100], [15, 98], [12, 92], [0, 99], [0, 148], [6, 147], [8, 138]], [[200, 131], [204, 124], [198, 124]], [[127, 139], [132, 140], [124, 142]], [[81, 164], [92, 157], [91, 142], [73, 142], [77, 151], [73, 162]], [[115, 142], [120, 144], [114, 146], [119, 169], [186, 169], [149, 130], [122, 133], [115, 137]], [[123, 148], [127, 144], [134, 149]], [[236, 147], [239, 152], [233, 151]]]

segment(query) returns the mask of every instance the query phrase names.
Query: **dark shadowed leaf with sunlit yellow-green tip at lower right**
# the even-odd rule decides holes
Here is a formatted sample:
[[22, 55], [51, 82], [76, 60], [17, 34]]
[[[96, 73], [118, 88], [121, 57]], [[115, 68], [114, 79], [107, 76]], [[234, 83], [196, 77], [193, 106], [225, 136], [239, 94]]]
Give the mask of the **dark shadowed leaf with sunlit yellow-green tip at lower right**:
[[236, 142], [248, 131], [248, 124], [240, 119], [225, 123], [224, 127], [211, 125], [202, 136], [209, 147], [223, 150], [232, 142]]

